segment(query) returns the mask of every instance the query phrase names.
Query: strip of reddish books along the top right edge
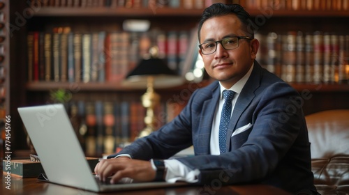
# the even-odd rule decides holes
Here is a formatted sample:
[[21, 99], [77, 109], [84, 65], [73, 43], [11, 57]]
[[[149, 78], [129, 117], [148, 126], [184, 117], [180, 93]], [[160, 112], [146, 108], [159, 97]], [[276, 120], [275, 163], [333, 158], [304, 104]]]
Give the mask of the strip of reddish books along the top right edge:
[[247, 9], [349, 10], [349, 0], [246, 0]]

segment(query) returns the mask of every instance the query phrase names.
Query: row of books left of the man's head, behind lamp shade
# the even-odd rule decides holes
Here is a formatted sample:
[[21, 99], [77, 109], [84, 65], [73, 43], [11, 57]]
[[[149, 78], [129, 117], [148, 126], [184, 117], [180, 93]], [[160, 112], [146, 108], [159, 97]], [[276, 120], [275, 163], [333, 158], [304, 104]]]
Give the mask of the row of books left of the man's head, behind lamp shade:
[[121, 81], [158, 46], [158, 57], [181, 74], [189, 31], [98, 31], [79, 33], [69, 27], [52, 32], [31, 31], [27, 36], [28, 81]]

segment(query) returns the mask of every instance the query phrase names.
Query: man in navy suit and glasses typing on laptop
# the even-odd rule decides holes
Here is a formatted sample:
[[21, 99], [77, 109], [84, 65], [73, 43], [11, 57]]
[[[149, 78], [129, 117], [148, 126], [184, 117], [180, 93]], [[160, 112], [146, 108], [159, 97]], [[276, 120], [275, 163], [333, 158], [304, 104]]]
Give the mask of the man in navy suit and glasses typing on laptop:
[[[218, 81], [195, 91], [170, 123], [102, 160], [95, 168], [102, 180], [255, 182], [316, 194], [302, 100], [255, 61], [259, 42], [249, 21], [236, 4], [215, 3], [204, 11], [200, 55]], [[234, 91], [227, 104], [226, 90]], [[167, 159], [191, 145], [195, 157]]]

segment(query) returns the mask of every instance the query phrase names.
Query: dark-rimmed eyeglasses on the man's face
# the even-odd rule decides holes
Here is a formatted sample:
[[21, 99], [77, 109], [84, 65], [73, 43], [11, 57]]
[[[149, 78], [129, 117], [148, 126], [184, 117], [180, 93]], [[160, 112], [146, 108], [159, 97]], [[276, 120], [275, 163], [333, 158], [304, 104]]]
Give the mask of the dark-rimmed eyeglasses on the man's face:
[[239, 47], [240, 39], [253, 40], [253, 38], [250, 38], [248, 36], [234, 36], [234, 37], [223, 38], [222, 40], [204, 42], [200, 44], [199, 47], [202, 54], [208, 55], [216, 52], [218, 42], [221, 43], [224, 49], [230, 50], [230, 49], [235, 49]]

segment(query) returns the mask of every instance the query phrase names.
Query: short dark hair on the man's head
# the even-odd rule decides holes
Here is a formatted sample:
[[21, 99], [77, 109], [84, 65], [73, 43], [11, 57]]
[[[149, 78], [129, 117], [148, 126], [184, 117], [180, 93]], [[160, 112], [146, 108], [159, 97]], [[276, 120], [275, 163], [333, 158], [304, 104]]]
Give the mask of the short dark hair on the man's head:
[[[246, 31], [246, 36], [249, 36], [251, 38], [254, 38], [254, 29], [253, 25], [251, 24], [251, 16], [246, 12], [246, 10], [240, 6], [239, 4], [224, 4], [224, 3], [214, 3], [208, 8], [205, 8], [205, 10], [202, 12], [201, 19], [199, 21], [198, 25], [198, 38], [200, 42], [200, 31], [202, 24], [206, 20], [209, 20], [211, 17], [217, 17], [222, 15], [228, 15], [228, 14], [235, 14], [239, 18], [239, 20], [244, 25]], [[248, 31], [248, 26], [251, 26], [250, 31]]]

